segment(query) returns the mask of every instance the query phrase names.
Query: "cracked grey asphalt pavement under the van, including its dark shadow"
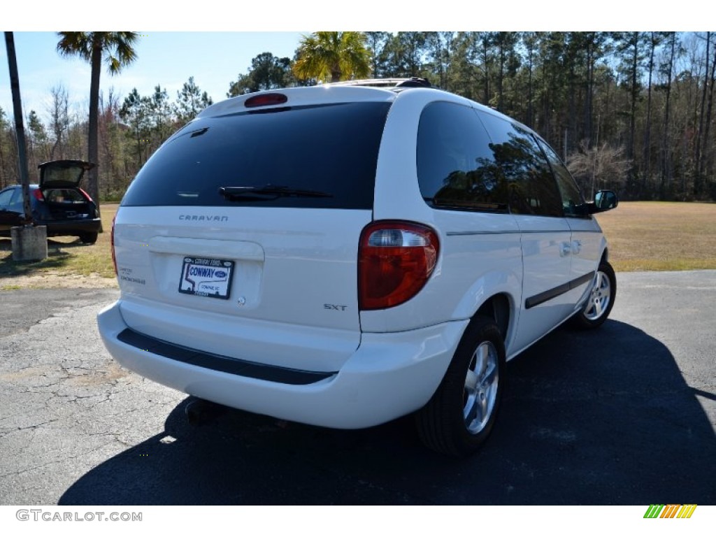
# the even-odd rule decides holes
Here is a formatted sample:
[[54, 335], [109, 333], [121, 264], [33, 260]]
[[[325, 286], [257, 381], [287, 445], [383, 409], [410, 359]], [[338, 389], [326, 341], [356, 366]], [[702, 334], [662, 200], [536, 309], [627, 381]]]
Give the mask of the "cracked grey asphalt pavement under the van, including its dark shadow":
[[410, 417], [190, 425], [189, 397], [102, 346], [117, 290], [0, 291], [0, 504], [715, 504], [716, 271], [617, 278], [601, 329], [558, 329], [508, 364], [467, 460], [423, 448]]

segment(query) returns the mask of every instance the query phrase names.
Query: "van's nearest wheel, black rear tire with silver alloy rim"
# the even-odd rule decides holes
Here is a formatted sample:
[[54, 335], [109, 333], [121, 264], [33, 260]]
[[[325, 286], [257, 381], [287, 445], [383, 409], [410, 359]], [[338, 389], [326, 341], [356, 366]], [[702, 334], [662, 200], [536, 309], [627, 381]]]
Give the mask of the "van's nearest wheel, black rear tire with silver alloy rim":
[[[504, 377], [505, 344], [500, 329], [489, 317], [475, 317], [440, 386], [415, 414], [420, 440], [452, 457], [475, 453], [495, 424]], [[473, 384], [472, 389], [468, 384]]]

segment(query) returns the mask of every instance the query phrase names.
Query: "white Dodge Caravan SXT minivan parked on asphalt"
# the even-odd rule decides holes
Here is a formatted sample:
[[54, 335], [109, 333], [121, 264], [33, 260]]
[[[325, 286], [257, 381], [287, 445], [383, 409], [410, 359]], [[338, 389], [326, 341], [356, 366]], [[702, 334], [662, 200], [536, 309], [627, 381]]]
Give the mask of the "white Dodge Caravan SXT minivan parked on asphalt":
[[[115, 359], [203, 400], [359, 428], [415, 413], [473, 453], [505, 360], [601, 325], [616, 279], [558, 155], [420, 79], [258, 92], [208, 107], [147, 161], [112, 228]], [[379, 84], [379, 82], [377, 83]]]

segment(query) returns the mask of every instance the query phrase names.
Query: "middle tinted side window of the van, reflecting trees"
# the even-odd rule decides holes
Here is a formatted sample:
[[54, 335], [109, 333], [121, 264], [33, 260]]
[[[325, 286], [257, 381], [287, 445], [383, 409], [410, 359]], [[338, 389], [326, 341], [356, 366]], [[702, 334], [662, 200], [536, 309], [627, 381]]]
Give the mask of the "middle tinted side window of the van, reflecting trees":
[[495, 162], [505, 175], [510, 211], [563, 216], [552, 170], [533, 135], [500, 117], [477, 113], [490, 133]]

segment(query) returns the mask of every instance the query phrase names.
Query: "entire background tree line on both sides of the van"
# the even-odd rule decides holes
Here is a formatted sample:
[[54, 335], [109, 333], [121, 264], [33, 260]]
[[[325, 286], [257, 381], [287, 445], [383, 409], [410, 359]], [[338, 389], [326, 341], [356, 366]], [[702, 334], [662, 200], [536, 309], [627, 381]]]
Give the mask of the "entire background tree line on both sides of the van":
[[[423, 77], [515, 117], [558, 150], [586, 197], [612, 188], [626, 199], [716, 200], [715, 32], [316, 32], [293, 58], [258, 54], [226, 97], [362, 77]], [[69, 112], [62, 87], [51, 97], [26, 117], [31, 170], [87, 155], [87, 114]], [[193, 77], [173, 100], [160, 84], [101, 95], [102, 200], [120, 198], [212, 102]], [[14, 144], [0, 109], [0, 187], [17, 180]]]

